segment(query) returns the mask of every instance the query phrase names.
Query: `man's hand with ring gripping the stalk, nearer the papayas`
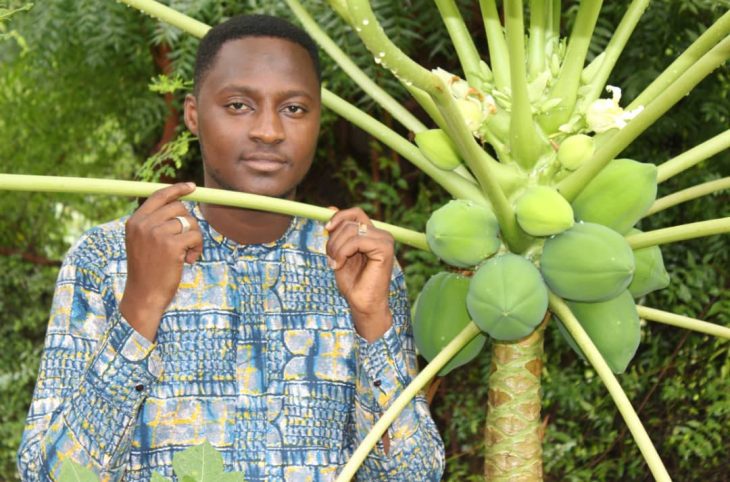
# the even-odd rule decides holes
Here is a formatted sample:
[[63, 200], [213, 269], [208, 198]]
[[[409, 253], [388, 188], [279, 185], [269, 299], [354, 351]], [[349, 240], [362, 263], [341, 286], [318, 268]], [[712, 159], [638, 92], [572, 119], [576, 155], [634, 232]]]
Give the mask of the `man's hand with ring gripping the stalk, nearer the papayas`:
[[360, 208], [338, 211], [325, 226], [327, 256], [357, 332], [372, 343], [392, 324], [388, 306], [393, 236], [373, 226]]

